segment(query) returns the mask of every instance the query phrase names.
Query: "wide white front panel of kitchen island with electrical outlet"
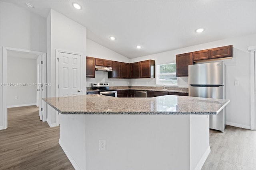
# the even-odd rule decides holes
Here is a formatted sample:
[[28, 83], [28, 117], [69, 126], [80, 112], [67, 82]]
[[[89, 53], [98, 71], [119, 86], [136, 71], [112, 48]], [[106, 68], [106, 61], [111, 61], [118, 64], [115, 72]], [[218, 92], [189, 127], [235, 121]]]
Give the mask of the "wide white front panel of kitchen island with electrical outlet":
[[190, 169], [190, 115], [85, 116], [86, 170]]

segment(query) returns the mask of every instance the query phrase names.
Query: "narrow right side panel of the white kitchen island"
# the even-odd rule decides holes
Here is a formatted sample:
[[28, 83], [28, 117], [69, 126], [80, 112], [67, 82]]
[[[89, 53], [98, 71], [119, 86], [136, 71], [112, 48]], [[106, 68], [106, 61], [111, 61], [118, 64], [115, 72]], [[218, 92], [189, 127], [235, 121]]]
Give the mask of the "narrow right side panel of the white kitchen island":
[[210, 153], [209, 115], [190, 115], [190, 170], [200, 170]]

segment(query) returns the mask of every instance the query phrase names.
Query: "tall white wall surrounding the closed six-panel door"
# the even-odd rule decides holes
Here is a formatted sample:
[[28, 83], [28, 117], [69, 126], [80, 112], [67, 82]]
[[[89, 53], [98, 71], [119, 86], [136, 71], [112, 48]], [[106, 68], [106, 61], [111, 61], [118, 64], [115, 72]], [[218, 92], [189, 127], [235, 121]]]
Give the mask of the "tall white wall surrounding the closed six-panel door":
[[[48, 97], [56, 96], [56, 49], [82, 54], [82, 94], [86, 94], [86, 27], [50, 10], [47, 17], [47, 82]], [[56, 125], [56, 111], [48, 106], [47, 122], [50, 127]]]

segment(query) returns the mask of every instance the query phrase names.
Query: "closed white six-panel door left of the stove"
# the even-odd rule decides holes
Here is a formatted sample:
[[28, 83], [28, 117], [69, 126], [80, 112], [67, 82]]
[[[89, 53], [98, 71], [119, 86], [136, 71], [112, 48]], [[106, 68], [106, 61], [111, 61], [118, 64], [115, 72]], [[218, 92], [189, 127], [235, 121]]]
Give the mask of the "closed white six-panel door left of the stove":
[[58, 96], [81, 95], [81, 55], [58, 52]]

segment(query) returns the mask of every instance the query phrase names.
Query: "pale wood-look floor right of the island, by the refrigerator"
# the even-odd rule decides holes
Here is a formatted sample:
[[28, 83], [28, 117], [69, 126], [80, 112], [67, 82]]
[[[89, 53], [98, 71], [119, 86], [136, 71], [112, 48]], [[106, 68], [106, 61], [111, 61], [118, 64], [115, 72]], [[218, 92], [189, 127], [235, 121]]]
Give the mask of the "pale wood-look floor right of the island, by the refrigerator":
[[210, 148], [202, 170], [256, 170], [256, 131], [226, 126], [210, 130]]

